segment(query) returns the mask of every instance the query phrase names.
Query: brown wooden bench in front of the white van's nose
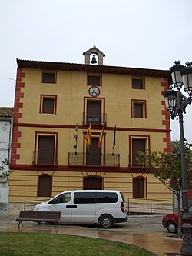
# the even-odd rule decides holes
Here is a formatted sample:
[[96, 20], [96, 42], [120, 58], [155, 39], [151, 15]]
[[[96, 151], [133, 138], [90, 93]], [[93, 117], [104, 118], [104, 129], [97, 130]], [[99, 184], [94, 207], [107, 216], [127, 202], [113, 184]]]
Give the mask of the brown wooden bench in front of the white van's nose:
[[35, 221], [35, 222], [52, 222], [58, 226], [58, 221], [61, 218], [61, 211], [20, 211], [19, 217], [16, 219], [18, 221], [18, 228], [22, 221]]

